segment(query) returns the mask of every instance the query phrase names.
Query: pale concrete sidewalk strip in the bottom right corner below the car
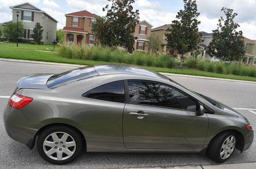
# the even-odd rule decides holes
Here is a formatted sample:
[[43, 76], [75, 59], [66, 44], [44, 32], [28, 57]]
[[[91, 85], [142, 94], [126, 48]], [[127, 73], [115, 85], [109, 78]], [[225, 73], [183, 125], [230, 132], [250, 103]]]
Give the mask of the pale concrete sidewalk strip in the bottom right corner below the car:
[[[192, 165], [192, 166], [174, 166], [174, 167], [151, 167], [143, 169], [253, 169], [256, 168], [256, 162], [220, 164], [220, 165]], [[141, 169], [141, 168], [133, 168]]]

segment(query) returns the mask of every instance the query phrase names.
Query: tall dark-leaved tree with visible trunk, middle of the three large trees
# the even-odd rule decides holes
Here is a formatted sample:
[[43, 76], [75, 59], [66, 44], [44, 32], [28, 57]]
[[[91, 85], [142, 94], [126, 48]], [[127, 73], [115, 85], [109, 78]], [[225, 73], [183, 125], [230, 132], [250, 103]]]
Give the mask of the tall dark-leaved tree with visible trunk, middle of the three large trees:
[[176, 15], [177, 20], [173, 20], [173, 25], [165, 32], [167, 46], [180, 54], [180, 66], [184, 59], [184, 54], [198, 48], [198, 43], [202, 42], [201, 35], [197, 34], [197, 20], [200, 13], [197, 11], [197, 4], [194, 0], [183, 0], [184, 10], [180, 10]]

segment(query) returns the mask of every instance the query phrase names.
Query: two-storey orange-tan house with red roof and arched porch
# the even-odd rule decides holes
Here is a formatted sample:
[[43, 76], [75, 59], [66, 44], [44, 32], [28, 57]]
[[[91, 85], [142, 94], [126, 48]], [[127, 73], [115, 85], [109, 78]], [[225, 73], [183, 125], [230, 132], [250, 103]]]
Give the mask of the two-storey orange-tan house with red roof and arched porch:
[[96, 21], [96, 14], [87, 10], [65, 14], [66, 26], [63, 28], [64, 41], [69, 43], [94, 44], [96, 38], [92, 33], [92, 23]]

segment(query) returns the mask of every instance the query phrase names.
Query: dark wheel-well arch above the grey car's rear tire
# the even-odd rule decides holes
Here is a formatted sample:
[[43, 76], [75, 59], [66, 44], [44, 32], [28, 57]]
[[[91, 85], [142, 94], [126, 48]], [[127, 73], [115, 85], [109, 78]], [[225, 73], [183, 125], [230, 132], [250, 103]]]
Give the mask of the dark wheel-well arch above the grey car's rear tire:
[[53, 127], [53, 126], [66, 126], [66, 127], [69, 127], [69, 128], [72, 128], [72, 129], [76, 130], [76, 131], [81, 135], [81, 138], [83, 139], [83, 142], [84, 142], [84, 147], [87, 149], [86, 138], [84, 137], [84, 135], [82, 134], [82, 132], [81, 132], [80, 130], [78, 130], [76, 127], [74, 127], [74, 126], [67, 125], [67, 124], [62, 124], [62, 123], [49, 124], [49, 125], [46, 125], [46, 126], [40, 128], [40, 129], [36, 132], [36, 134], [35, 134], [35, 136], [34, 136], [33, 145], [32, 145], [32, 148], [31, 148], [31, 149], [33, 149], [33, 147], [35, 146], [36, 137], [38, 137], [38, 136], [40, 135], [40, 133], [41, 133], [42, 131], [44, 131], [45, 129], [47, 129], [47, 128], [49, 128], [49, 127]]

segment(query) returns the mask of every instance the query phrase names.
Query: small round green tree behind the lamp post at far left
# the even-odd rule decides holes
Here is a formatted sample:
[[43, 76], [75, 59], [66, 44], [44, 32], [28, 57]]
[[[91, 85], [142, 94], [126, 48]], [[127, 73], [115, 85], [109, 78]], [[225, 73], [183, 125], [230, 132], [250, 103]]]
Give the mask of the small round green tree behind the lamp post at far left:
[[[4, 35], [7, 37], [10, 41], [16, 41], [17, 39], [17, 23], [16, 22], [10, 22], [7, 23], [4, 28]], [[18, 38], [24, 36], [24, 26], [22, 22], [18, 22]]]

